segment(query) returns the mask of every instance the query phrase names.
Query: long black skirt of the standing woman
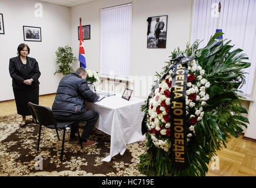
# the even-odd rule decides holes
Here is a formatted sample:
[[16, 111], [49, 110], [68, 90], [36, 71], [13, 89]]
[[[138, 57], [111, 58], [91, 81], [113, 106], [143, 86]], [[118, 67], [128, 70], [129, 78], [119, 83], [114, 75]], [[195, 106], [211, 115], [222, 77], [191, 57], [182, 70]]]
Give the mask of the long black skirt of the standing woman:
[[39, 104], [39, 86], [36, 88], [12, 89], [14, 90], [17, 113], [22, 116], [31, 115], [28, 109], [28, 102]]

